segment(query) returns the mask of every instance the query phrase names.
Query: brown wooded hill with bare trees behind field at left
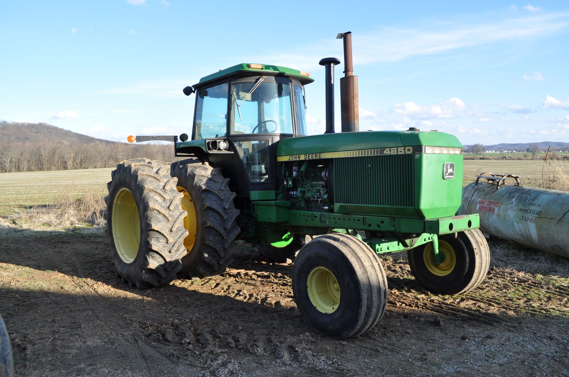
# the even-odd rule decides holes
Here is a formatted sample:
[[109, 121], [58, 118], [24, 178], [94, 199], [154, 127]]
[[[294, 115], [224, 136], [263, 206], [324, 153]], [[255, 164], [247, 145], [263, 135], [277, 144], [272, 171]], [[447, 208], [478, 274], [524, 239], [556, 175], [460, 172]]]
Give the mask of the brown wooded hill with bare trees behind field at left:
[[[175, 160], [174, 146], [171, 144], [129, 145], [84, 135], [76, 137], [80, 134], [52, 128], [57, 127], [41, 123], [0, 122], [0, 172], [114, 167], [122, 160], [136, 157]], [[31, 133], [23, 135], [24, 130]], [[43, 137], [42, 131], [55, 136]]]

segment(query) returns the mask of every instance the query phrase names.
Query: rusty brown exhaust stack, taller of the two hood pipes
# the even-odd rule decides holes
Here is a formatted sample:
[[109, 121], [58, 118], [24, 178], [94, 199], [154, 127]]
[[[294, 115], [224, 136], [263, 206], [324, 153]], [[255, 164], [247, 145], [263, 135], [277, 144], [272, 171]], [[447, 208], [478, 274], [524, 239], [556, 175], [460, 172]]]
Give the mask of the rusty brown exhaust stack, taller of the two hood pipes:
[[360, 108], [357, 91], [357, 76], [353, 76], [352, 32], [338, 33], [337, 39], [344, 39], [344, 74], [340, 79], [340, 106], [342, 132], [360, 131]]

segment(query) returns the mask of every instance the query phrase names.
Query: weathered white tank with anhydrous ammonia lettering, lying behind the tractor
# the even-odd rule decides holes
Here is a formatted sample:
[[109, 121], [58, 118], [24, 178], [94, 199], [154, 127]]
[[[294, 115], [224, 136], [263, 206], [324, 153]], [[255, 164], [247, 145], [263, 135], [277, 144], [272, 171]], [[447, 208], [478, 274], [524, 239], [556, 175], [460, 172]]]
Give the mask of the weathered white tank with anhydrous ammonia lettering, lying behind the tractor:
[[480, 230], [569, 258], [569, 192], [471, 183], [459, 215], [480, 214]]

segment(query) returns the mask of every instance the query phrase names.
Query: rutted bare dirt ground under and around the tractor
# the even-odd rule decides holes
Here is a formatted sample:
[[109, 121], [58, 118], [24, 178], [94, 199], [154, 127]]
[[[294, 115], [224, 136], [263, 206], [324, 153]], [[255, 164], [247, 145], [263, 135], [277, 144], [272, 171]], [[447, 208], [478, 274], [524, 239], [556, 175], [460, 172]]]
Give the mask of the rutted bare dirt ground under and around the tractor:
[[489, 274], [463, 296], [431, 295], [405, 254], [382, 257], [385, 316], [335, 340], [300, 316], [292, 265], [249, 245], [220, 276], [138, 290], [116, 278], [96, 229], [0, 231], [18, 376], [569, 375], [569, 279], [555, 272], [569, 261], [504, 242], [490, 242]]

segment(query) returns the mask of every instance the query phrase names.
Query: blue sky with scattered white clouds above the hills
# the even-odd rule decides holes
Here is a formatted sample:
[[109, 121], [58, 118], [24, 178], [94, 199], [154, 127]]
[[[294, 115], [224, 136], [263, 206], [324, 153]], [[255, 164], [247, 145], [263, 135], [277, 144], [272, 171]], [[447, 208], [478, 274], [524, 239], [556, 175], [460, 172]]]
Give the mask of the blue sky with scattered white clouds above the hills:
[[311, 73], [308, 127], [322, 133], [318, 61], [343, 60], [335, 37], [346, 31], [362, 130], [438, 129], [463, 144], [569, 141], [567, 1], [4, 0], [0, 119], [109, 140], [189, 133], [195, 97], [183, 87], [253, 62]]

